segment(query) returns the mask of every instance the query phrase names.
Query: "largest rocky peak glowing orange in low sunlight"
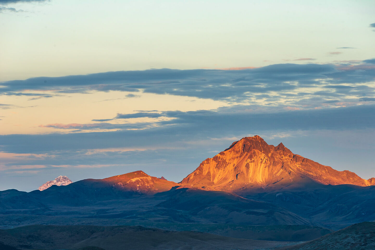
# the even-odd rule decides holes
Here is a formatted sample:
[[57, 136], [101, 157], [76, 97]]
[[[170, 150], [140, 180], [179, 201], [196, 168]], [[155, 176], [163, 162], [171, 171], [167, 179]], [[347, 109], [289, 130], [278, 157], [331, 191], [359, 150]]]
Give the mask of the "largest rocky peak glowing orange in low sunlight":
[[181, 181], [181, 187], [237, 191], [249, 188], [272, 189], [294, 183], [323, 185], [375, 185], [375, 178], [364, 180], [350, 171], [337, 171], [293, 154], [282, 143], [276, 147], [260, 136], [245, 137], [204, 160]]

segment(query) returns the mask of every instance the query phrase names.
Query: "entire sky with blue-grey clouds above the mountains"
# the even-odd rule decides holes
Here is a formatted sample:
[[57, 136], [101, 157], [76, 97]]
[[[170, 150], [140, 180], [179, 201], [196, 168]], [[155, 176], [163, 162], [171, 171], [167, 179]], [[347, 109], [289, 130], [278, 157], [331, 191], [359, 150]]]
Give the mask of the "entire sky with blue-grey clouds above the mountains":
[[375, 177], [374, 1], [0, 0], [0, 190], [181, 181], [260, 135]]

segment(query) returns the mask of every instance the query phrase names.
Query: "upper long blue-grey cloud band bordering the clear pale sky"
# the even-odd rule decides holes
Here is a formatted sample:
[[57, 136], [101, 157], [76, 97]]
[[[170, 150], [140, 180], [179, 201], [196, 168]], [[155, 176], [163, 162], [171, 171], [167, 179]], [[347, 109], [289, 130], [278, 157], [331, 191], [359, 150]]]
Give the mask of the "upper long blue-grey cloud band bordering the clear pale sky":
[[[242, 70], [151, 69], [37, 77], [1, 82], [0, 85], [3, 87], [0, 88], [0, 94], [32, 95], [38, 98], [43, 96], [38, 94], [41, 91], [54, 91], [55, 93], [124, 91], [128, 93], [125, 93], [123, 98], [139, 97], [143, 92], [220, 100], [231, 105], [252, 103], [258, 105], [253, 106], [256, 109], [272, 109], [276, 106], [281, 110], [286, 106], [308, 109], [319, 105], [327, 107], [323, 106], [323, 103], [329, 100], [352, 102], [354, 105], [359, 102], [359, 97], [374, 97], [374, 64], [374, 59], [369, 59], [338, 61], [337, 64], [272, 64]], [[334, 87], [338, 85], [347, 87]], [[34, 91], [34, 93], [31, 94], [26, 90]], [[349, 93], [351, 95], [348, 95]], [[54, 96], [54, 94], [44, 95]], [[114, 99], [98, 100], [98, 102], [111, 100]], [[135, 116], [138, 117], [132, 117], [134, 114], [125, 115], [127, 115], [124, 116], [126, 119], [147, 117], [145, 114], [136, 114]], [[161, 116], [160, 113], [149, 115], [151, 118]], [[105, 122], [112, 118], [96, 117], [93, 121]]]

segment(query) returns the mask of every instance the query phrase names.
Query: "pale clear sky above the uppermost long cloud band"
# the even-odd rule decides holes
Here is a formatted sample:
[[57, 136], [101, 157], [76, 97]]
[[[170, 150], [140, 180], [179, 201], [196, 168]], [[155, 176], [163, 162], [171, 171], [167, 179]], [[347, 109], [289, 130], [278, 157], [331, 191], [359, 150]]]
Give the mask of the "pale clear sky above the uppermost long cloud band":
[[24, 12], [0, 13], [0, 80], [365, 60], [374, 51], [370, 0], [51, 0], [3, 7]]

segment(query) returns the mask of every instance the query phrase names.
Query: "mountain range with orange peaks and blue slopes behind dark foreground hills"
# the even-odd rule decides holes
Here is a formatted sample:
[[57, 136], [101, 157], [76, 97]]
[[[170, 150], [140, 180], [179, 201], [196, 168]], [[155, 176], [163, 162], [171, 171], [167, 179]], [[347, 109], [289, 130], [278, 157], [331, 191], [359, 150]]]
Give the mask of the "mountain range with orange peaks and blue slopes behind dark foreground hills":
[[180, 183], [135, 171], [43, 191], [1, 191], [0, 229], [138, 225], [248, 240], [312, 240], [375, 221], [374, 184], [374, 178], [336, 171], [254, 136], [204, 160]]

